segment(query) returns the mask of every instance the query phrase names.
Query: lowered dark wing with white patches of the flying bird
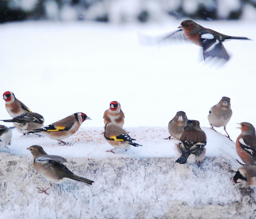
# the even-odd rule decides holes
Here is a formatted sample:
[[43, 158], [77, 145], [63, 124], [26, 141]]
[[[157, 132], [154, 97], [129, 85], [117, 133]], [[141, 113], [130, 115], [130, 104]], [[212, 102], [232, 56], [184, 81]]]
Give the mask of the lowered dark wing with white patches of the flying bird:
[[203, 46], [204, 60], [208, 57], [223, 58], [226, 61], [229, 60], [229, 54], [227, 54], [222, 42], [218, 40], [216, 36], [211, 33], [207, 33], [205, 30], [201, 30], [199, 35]]

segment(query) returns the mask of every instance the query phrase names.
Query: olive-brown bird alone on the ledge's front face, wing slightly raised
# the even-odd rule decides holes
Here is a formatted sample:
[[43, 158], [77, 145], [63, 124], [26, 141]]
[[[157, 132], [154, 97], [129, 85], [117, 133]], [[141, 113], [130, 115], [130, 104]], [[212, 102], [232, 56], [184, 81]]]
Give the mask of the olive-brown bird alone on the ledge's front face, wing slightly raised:
[[[39, 145], [33, 145], [27, 149], [33, 155], [34, 168], [41, 176], [46, 178], [50, 183], [50, 187], [52, 186], [52, 183], [61, 183], [70, 179], [81, 182], [84, 185], [92, 185], [94, 182], [72, 173], [64, 164], [62, 164], [67, 162], [65, 158], [56, 155], [48, 155]], [[47, 189], [40, 189], [40, 191], [46, 193]]]

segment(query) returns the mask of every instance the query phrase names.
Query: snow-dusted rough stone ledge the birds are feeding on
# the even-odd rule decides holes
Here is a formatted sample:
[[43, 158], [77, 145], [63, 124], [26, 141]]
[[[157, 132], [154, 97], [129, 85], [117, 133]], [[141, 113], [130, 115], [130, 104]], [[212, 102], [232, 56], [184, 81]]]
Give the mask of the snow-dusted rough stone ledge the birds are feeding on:
[[[255, 193], [234, 185], [239, 164], [234, 142], [203, 128], [207, 135], [206, 159], [200, 167], [191, 156], [175, 163], [177, 140], [165, 127], [126, 128], [143, 147], [117, 154], [100, 133], [82, 128], [59, 146], [47, 137], [13, 133], [10, 151], [0, 153], [0, 218], [254, 218]], [[136, 136], [135, 136], [136, 135]], [[79, 139], [79, 140], [78, 140]], [[235, 139], [234, 139], [235, 140]], [[95, 181], [85, 186], [73, 181], [54, 184], [49, 195], [38, 193], [48, 182], [32, 165], [26, 148], [41, 145], [48, 154], [64, 156], [75, 174]]]

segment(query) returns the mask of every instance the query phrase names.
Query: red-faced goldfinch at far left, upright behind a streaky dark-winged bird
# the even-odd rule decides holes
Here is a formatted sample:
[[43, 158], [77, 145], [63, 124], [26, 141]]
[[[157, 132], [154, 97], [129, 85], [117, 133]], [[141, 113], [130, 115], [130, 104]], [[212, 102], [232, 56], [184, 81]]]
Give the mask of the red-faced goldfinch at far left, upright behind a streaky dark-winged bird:
[[5, 108], [11, 118], [26, 112], [31, 112], [31, 110], [20, 102], [11, 91], [4, 92], [3, 99], [5, 101]]

